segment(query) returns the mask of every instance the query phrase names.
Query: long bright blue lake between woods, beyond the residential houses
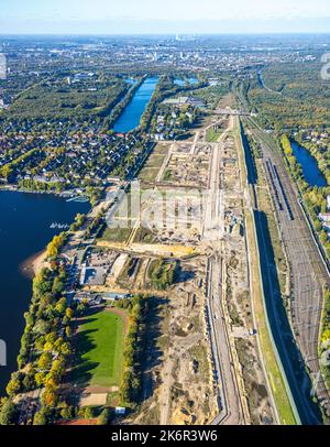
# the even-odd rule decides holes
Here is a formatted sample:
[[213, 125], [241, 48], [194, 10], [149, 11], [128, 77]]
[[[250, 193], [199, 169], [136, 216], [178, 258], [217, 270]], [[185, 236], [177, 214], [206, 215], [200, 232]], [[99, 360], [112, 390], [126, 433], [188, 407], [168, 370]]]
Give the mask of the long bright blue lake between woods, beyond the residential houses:
[[158, 79], [158, 77], [145, 79], [136, 90], [131, 102], [116, 121], [113, 126], [114, 132], [127, 133], [139, 128], [142, 115], [155, 91]]

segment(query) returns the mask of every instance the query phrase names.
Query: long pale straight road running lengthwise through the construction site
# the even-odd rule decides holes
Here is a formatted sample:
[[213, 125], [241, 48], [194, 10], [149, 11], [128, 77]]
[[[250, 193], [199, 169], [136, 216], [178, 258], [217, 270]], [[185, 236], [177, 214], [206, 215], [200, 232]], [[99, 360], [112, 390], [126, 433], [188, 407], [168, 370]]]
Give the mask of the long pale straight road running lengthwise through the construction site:
[[221, 153], [227, 135], [233, 130], [234, 120], [230, 118], [228, 129], [217, 143], [212, 143], [212, 159], [209, 175], [209, 195], [204, 219], [204, 240], [209, 243], [213, 253], [208, 259], [206, 280], [206, 306], [209, 321], [211, 350], [216, 370], [216, 382], [219, 393], [220, 414], [212, 425], [245, 424], [239, 382], [222, 307], [222, 259], [221, 238], [223, 237], [223, 189], [221, 185]]

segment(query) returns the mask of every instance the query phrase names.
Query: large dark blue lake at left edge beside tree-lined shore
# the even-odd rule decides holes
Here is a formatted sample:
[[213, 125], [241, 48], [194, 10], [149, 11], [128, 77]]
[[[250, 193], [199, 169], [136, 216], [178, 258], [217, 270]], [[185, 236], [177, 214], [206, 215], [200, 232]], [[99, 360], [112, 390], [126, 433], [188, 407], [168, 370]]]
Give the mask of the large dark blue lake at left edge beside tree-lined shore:
[[32, 297], [32, 281], [20, 268], [61, 232], [52, 224], [70, 225], [89, 208], [88, 203], [67, 203], [53, 195], [0, 192], [0, 339], [8, 351], [7, 367], [0, 367], [0, 395], [16, 369], [23, 314]]

